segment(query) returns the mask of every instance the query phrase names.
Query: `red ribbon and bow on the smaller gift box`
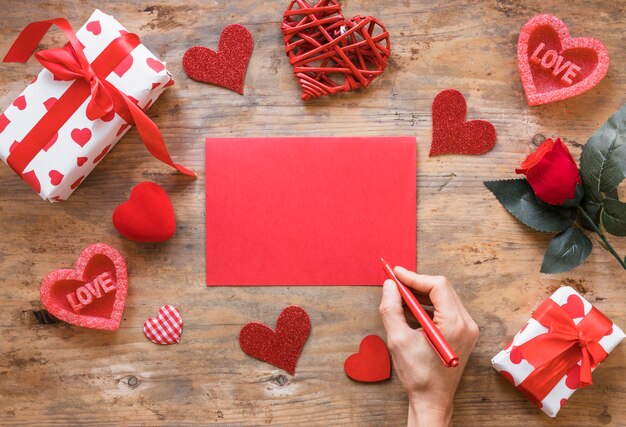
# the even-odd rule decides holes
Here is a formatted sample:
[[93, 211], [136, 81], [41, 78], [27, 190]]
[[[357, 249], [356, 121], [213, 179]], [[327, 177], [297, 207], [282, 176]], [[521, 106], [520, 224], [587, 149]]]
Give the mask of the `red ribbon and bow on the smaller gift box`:
[[541, 402], [558, 382], [581, 361], [580, 387], [591, 384], [591, 370], [607, 357], [598, 343], [611, 332], [613, 322], [595, 307], [575, 324], [570, 315], [548, 298], [533, 313], [548, 332], [519, 346], [535, 370], [517, 388], [535, 403]]

